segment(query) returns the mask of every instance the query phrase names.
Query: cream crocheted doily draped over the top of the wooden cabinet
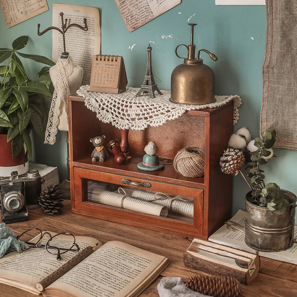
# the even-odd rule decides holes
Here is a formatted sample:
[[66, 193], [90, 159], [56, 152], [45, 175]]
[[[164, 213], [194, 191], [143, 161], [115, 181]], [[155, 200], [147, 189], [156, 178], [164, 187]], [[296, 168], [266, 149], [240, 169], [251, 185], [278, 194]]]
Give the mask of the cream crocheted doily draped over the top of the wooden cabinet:
[[85, 105], [97, 113], [104, 123], [111, 123], [119, 129], [143, 130], [147, 126], [157, 127], [168, 120], [174, 120], [187, 110], [219, 107], [234, 101], [234, 124], [239, 119], [238, 107], [241, 99], [237, 95], [215, 96], [216, 102], [206, 105], [182, 105], [170, 102], [170, 91], [150, 98], [146, 95], [135, 97], [139, 88], [128, 87], [121, 94], [90, 92], [90, 86], [81, 86], [77, 94], [85, 98]]

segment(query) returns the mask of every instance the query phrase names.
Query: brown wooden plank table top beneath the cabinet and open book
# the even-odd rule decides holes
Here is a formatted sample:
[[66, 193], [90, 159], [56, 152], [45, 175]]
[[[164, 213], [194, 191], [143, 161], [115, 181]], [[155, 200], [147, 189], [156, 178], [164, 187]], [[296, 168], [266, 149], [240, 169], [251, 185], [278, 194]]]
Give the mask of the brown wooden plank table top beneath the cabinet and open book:
[[[71, 213], [70, 201], [64, 201], [59, 215], [48, 216], [38, 209], [29, 211], [29, 220], [12, 223], [9, 227], [20, 234], [29, 228], [40, 228], [53, 232], [71, 232], [77, 236], [98, 238], [102, 243], [111, 240], [126, 242], [149, 252], [163, 255], [170, 260], [155, 282], [143, 293], [143, 296], [157, 297], [157, 284], [161, 277], [181, 277], [184, 281], [197, 271], [184, 266], [183, 254], [191, 240], [189, 238], [122, 225]], [[297, 266], [277, 260], [260, 257], [260, 273], [248, 286], [243, 286], [244, 297], [295, 297], [297, 296]], [[1, 297], [36, 296], [20, 289], [0, 284]]]

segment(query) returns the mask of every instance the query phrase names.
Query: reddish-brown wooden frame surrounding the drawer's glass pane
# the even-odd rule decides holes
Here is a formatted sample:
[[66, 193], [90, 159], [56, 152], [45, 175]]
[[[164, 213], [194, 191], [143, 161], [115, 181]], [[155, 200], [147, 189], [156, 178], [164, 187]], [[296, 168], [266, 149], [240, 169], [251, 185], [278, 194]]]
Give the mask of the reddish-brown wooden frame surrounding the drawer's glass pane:
[[[84, 201], [86, 197], [86, 179], [95, 181], [103, 181], [112, 184], [124, 185], [121, 182], [122, 178], [126, 178], [135, 182], [149, 182], [152, 191], [165, 192], [173, 195], [181, 195], [194, 199], [194, 224], [184, 222], [177, 219], [158, 217], [148, 214], [140, 214], [138, 212], [129, 211], [126, 209], [119, 209], [112, 206], [99, 205]], [[113, 173], [98, 172], [89, 169], [73, 167], [73, 182], [75, 187], [71, 196], [72, 212], [77, 214], [88, 215], [99, 219], [119, 222], [127, 225], [143, 227], [147, 229], [172, 233], [187, 237], [201, 237], [203, 236], [203, 189], [183, 187], [174, 184], [166, 184], [162, 182], [139, 179], [130, 176], [118, 175]], [[131, 187], [127, 184], [125, 186]], [[135, 189], [143, 189], [143, 187], [133, 187]]]

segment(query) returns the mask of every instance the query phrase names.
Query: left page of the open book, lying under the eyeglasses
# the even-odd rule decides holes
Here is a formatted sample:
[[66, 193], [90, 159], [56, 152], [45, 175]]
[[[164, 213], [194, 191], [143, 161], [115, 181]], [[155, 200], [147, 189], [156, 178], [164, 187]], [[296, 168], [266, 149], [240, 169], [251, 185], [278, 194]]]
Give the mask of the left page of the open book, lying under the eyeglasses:
[[[50, 233], [52, 236], [56, 234], [53, 232]], [[89, 246], [95, 247], [96, 244], [98, 247], [101, 246], [101, 243], [94, 238], [82, 236], [75, 238], [76, 243], [80, 247], [80, 251]], [[38, 239], [39, 236], [36, 236], [30, 242], [37, 242]], [[42, 244], [45, 244], [47, 241], [48, 238], [42, 239]], [[59, 247], [70, 247], [72, 243], [72, 236], [59, 236]], [[37, 292], [37, 283], [45, 279], [45, 277], [56, 271], [77, 254], [78, 252], [69, 251], [61, 255], [61, 260], [57, 260], [56, 255], [51, 255], [44, 248], [31, 248], [21, 253], [11, 252], [0, 259], [0, 282], [9, 284], [9, 280], [12, 280], [14, 281], [11, 284], [13, 286], [21, 287], [23, 283], [26, 287], [31, 286], [33, 290]], [[20, 284], [18, 285], [17, 282]], [[24, 288], [24, 290], [26, 290], [26, 288]]]

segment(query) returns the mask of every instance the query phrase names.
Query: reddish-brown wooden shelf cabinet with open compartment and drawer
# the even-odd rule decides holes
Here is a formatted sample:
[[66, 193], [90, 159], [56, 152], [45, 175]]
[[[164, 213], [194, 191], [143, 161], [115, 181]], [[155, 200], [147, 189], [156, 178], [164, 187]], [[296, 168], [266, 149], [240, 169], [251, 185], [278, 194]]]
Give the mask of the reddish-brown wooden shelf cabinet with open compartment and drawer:
[[[233, 133], [233, 101], [219, 108], [188, 111], [160, 127], [148, 127], [142, 131], [130, 129], [129, 153], [132, 159], [127, 165], [117, 165], [113, 156], [105, 162], [92, 162], [94, 146], [89, 139], [105, 135], [107, 144], [112, 139], [120, 140], [120, 130], [100, 122], [96, 113], [84, 105], [84, 98], [69, 96], [68, 100], [72, 212], [201, 238], [208, 238], [230, 217], [232, 176], [221, 172], [219, 158]], [[159, 147], [157, 154], [160, 161], [165, 160], [163, 170], [150, 172], [137, 168], [144, 154], [144, 146], [150, 140], [154, 140]], [[205, 175], [202, 178], [181, 176], [172, 165], [178, 150], [193, 146], [205, 149]], [[152, 185], [150, 190], [193, 198], [193, 223], [140, 214], [86, 200], [88, 179], [123, 186], [122, 178], [135, 182], [148, 181]]]

